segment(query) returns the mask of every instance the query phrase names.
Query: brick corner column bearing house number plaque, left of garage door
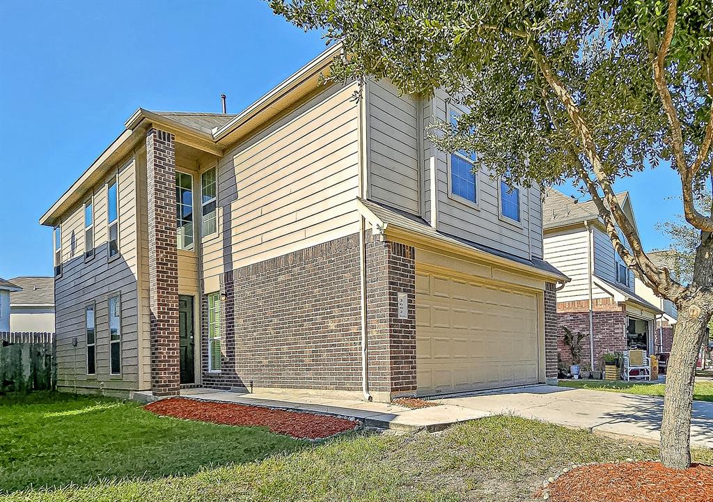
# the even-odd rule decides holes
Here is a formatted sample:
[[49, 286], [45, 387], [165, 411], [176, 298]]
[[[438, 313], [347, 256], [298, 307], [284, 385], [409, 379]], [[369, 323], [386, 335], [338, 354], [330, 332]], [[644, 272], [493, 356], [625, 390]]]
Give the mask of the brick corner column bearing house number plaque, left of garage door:
[[[369, 237], [366, 248], [369, 389], [416, 393], [416, 270], [414, 248]], [[409, 299], [399, 319], [399, 293]]]

